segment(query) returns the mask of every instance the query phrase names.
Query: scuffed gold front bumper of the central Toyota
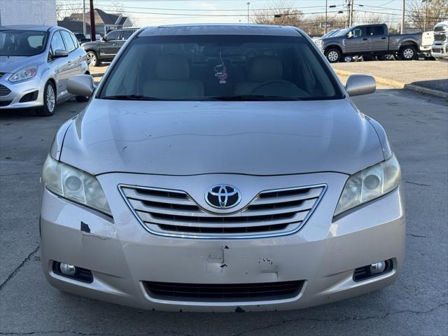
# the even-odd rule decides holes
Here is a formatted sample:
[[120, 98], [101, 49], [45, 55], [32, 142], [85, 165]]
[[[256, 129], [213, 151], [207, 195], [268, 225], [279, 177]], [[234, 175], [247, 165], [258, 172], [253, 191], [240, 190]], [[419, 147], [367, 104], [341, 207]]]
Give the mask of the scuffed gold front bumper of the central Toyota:
[[[297, 309], [379, 290], [397, 279], [405, 255], [402, 193], [397, 188], [332, 222], [346, 177], [335, 173], [182, 178], [104, 174], [98, 179], [113, 211], [113, 220], [44, 189], [40, 223], [43, 271], [48, 281], [61, 290], [142, 309], [172, 311]], [[151, 234], [127, 208], [117, 188], [118, 183], [160, 188], [195, 183], [202, 188], [214, 181], [242, 186], [241, 179], [253, 180], [248, 183], [256, 182], [261, 189], [269, 183], [279, 188], [327, 183], [328, 190], [309, 221], [293, 235], [207, 240]], [[88, 230], [80, 230], [81, 222], [88, 225]], [[354, 269], [389, 259], [393, 260], [391, 272], [353, 281]], [[82, 283], [55, 274], [54, 260], [91, 269], [94, 281]], [[152, 297], [143, 281], [304, 281], [304, 286], [297, 295], [281, 300], [176, 300]]]

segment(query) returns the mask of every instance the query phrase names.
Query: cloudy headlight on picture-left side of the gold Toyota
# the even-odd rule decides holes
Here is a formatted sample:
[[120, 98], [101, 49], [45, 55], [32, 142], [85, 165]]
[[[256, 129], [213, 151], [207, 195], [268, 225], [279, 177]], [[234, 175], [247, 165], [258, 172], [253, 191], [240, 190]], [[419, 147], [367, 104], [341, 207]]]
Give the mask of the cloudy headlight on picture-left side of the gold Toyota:
[[43, 164], [42, 181], [53, 193], [112, 216], [97, 178], [78, 168], [57, 162], [48, 155]]

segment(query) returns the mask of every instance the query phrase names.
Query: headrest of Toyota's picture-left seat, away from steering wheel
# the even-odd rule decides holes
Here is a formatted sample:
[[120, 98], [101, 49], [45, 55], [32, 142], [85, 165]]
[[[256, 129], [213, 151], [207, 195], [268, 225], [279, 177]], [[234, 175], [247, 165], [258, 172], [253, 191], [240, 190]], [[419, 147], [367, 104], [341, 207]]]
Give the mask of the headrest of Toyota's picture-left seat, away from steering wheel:
[[190, 79], [190, 65], [183, 55], [160, 55], [155, 64], [155, 73], [158, 79], [187, 80]]

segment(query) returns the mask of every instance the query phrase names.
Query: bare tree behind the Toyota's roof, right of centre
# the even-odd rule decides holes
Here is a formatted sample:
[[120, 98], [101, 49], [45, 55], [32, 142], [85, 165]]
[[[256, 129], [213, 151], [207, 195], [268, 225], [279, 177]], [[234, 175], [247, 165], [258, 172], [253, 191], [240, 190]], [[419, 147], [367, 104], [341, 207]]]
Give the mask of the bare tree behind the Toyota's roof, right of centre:
[[292, 1], [274, 1], [267, 7], [253, 10], [252, 21], [259, 25], [300, 25], [302, 11], [293, 9]]

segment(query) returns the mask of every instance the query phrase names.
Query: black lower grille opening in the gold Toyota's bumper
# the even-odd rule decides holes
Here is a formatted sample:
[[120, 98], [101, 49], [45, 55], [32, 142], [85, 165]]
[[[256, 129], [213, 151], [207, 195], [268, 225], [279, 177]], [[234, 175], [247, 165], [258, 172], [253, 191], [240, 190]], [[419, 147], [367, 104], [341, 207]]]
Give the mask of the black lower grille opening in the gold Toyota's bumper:
[[269, 283], [169, 283], [144, 281], [149, 296], [172, 301], [264, 301], [284, 300], [296, 297], [304, 281], [283, 281]]

